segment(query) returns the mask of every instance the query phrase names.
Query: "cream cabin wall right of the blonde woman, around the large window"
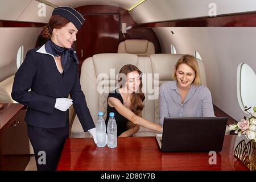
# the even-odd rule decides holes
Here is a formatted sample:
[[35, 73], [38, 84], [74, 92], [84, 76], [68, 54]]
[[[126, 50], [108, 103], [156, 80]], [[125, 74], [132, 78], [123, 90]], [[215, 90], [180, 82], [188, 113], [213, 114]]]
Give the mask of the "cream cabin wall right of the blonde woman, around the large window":
[[207, 86], [212, 92], [213, 104], [240, 120], [244, 113], [237, 100], [237, 67], [246, 63], [256, 73], [256, 28], [163, 27], [153, 30], [164, 53], [171, 52], [171, 44], [174, 44], [177, 53], [193, 55], [195, 50], [199, 51], [205, 63]]

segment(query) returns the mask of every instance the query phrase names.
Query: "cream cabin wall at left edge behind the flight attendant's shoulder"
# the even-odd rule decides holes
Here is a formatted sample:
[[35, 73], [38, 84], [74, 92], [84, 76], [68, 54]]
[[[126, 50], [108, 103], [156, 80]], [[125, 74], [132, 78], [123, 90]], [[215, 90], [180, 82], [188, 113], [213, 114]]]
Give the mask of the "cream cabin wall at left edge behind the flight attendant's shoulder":
[[24, 47], [24, 58], [29, 49], [35, 47], [42, 28], [0, 28], [0, 82], [17, 71], [16, 55]]

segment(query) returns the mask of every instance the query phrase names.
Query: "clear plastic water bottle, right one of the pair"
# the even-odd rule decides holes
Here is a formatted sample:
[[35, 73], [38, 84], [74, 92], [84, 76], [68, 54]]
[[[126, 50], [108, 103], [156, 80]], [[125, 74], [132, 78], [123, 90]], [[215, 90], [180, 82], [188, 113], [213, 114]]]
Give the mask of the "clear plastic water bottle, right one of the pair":
[[109, 113], [108, 121], [108, 147], [117, 147], [117, 123], [115, 122], [114, 113]]

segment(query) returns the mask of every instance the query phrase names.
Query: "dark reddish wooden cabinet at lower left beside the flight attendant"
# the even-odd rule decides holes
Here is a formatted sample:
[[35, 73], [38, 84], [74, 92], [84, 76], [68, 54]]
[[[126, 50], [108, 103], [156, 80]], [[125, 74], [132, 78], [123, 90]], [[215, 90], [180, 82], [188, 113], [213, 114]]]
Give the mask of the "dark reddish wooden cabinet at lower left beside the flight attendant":
[[5, 104], [0, 110], [0, 171], [24, 170], [30, 160], [26, 108]]

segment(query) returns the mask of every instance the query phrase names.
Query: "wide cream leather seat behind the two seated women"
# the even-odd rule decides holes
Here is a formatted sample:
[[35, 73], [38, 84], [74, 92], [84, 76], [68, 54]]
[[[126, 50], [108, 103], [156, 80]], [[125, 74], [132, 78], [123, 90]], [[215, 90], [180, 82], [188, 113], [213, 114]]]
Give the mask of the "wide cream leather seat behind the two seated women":
[[[137, 66], [143, 73], [144, 109], [142, 117], [151, 122], [159, 122], [159, 86], [164, 81], [172, 80], [172, 71], [176, 61], [183, 55], [154, 54], [147, 56], [137, 56], [129, 53], [102, 53], [89, 57], [84, 61], [81, 68], [81, 88], [85, 94], [86, 102], [94, 123], [97, 122], [98, 111], [104, 112], [106, 118], [106, 108], [108, 94], [115, 89], [115, 76], [125, 64]], [[200, 69], [200, 78], [204, 85], [207, 85], [205, 68], [203, 61], [197, 59]], [[155, 131], [140, 127], [135, 136], [154, 136]], [[88, 132], [84, 132], [77, 116], [71, 128], [72, 137], [91, 137]]]

